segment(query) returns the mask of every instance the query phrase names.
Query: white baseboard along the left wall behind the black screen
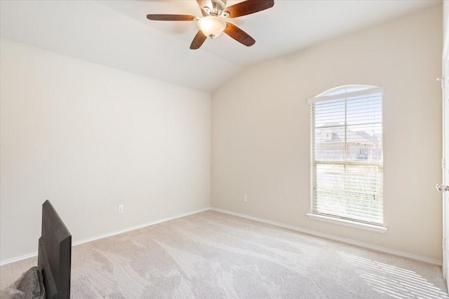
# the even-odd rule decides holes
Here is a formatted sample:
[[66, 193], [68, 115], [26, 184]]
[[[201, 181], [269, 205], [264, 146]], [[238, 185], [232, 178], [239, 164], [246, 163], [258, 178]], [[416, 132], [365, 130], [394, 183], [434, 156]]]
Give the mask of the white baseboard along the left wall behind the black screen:
[[[95, 240], [98, 240], [98, 239], [103, 239], [105, 237], [112, 237], [114, 235], [123, 234], [123, 232], [130, 232], [131, 230], [138, 230], [139, 228], [145, 228], [145, 227], [147, 227], [149, 225], [154, 225], [154, 224], [170, 221], [170, 220], [173, 220], [173, 219], [176, 219], [176, 218], [182, 218], [182, 217], [185, 217], [185, 216], [189, 216], [189, 215], [192, 215], [192, 214], [196, 214], [196, 213], [200, 213], [202, 211], [208, 211], [208, 210], [210, 210], [210, 207], [207, 207], [207, 208], [204, 208], [204, 209], [199, 209], [199, 210], [196, 210], [196, 211], [189, 211], [187, 213], [179, 214], [179, 215], [176, 215], [176, 216], [162, 218], [162, 219], [159, 219], [159, 220], [156, 220], [156, 221], [152, 221], [152, 222], [149, 222], [149, 223], [144, 223], [144, 224], [141, 224], [141, 225], [133, 226], [131, 228], [126, 228], [124, 230], [116, 230], [115, 232], [109, 232], [109, 233], [104, 234], [104, 235], [91, 237], [91, 238], [88, 238], [88, 239], [82, 239], [80, 241], [73, 242], [72, 246], [77, 246], [77, 245], [84, 244], [84, 243], [87, 243], [87, 242], [92, 242], [92, 241], [95, 241]], [[35, 251], [33, 253], [25, 254], [25, 256], [18, 256], [17, 258], [10, 258], [8, 260], [1, 260], [0, 261], [0, 266], [7, 265], [7, 264], [10, 264], [10, 263], [14, 263], [14, 262], [18, 262], [19, 260], [25, 260], [26, 258], [34, 258], [36, 256], [37, 256], [37, 251]]]

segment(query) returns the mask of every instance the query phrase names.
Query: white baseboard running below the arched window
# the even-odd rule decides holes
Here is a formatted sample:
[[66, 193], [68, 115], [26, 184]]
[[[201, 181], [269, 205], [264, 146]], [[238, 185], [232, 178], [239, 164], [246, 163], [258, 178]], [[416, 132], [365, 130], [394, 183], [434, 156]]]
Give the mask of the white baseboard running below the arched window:
[[401, 256], [402, 258], [410, 258], [411, 260], [417, 260], [417, 261], [420, 261], [420, 262], [423, 262], [423, 263], [428, 263], [428, 264], [431, 264], [431, 265], [441, 266], [441, 260], [433, 260], [431, 258], [424, 258], [422, 256], [415, 256], [413, 254], [405, 253], [405, 252], [402, 252], [402, 251], [391, 250], [391, 249], [387, 249], [387, 248], [380, 247], [380, 246], [375, 246], [375, 245], [371, 245], [371, 244], [367, 244], [367, 243], [363, 243], [363, 242], [357, 242], [357, 241], [354, 241], [354, 240], [351, 240], [351, 239], [345, 239], [345, 238], [342, 238], [342, 237], [335, 237], [333, 235], [326, 235], [326, 234], [323, 234], [321, 232], [314, 232], [313, 230], [304, 230], [303, 228], [297, 228], [296, 226], [293, 226], [293, 225], [287, 225], [287, 224], [278, 223], [278, 222], [275, 222], [275, 221], [269, 221], [269, 220], [265, 220], [265, 219], [262, 219], [262, 218], [248, 216], [248, 215], [245, 215], [245, 214], [239, 214], [239, 213], [235, 213], [233, 211], [227, 211], [225, 209], [217, 209], [217, 208], [214, 208], [214, 207], [211, 207], [210, 209], [213, 210], [213, 211], [218, 211], [220, 213], [230, 214], [230, 215], [234, 215], [234, 216], [238, 216], [238, 217], [242, 217], [242, 218], [247, 218], [247, 219], [258, 221], [258, 222], [262, 222], [262, 223], [268, 223], [268, 224], [276, 225], [276, 226], [279, 226], [281, 228], [288, 228], [289, 230], [295, 230], [297, 232], [304, 232], [304, 234], [307, 234], [307, 235], [314, 235], [316, 237], [322, 237], [324, 239], [331, 239], [331, 240], [334, 240], [334, 241], [338, 241], [338, 242], [342, 242], [342, 243], [346, 243], [346, 244], [351, 244], [351, 245], [363, 247], [363, 248], [366, 248], [366, 249], [371, 249], [371, 250], [374, 250], [374, 251], [380, 251], [380, 252], [383, 252], [383, 253], [389, 253], [389, 254], [392, 254], [394, 256]]

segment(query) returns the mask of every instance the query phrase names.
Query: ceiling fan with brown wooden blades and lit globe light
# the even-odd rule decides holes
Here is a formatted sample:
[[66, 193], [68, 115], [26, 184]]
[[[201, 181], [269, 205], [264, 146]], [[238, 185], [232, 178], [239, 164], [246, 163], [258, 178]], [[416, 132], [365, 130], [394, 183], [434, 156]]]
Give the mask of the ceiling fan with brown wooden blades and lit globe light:
[[194, 37], [191, 49], [199, 49], [208, 37], [214, 39], [222, 32], [232, 37], [245, 46], [253, 46], [255, 40], [236, 25], [226, 22], [227, 18], [238, 18], [242, 15], [250, 15], [264, 11], [274, 6], [274, 0], [246, 0], [238, 4], [226, 7], [226, 0], [196, 0], [201, 8], [202, 18], [194, 15], [147, 15], [149, 20], [154, 21], [197, 21], [198, 33]]

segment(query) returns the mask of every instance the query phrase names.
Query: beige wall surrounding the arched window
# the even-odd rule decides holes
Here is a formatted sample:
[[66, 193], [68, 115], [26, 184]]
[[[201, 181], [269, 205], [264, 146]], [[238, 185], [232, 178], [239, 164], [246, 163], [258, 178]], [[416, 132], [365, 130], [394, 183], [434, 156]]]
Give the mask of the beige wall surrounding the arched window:
[[[438, 5], [256, 64], [223, 85], [212, 102], [212, 207], [441, 260], [441, 24]], [[306, 216], [307, 98], [349, 84], [384, 88], [384, 234]]]

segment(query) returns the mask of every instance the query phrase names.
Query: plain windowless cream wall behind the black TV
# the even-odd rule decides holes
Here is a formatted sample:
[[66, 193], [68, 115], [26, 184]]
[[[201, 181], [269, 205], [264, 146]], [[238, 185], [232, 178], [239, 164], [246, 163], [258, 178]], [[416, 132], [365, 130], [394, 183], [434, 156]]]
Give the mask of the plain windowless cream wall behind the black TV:
[[[0, 259], [210, 206], [210, 94], [1, 40]], [[124, 213], [117, 213], [124, 204]]]

